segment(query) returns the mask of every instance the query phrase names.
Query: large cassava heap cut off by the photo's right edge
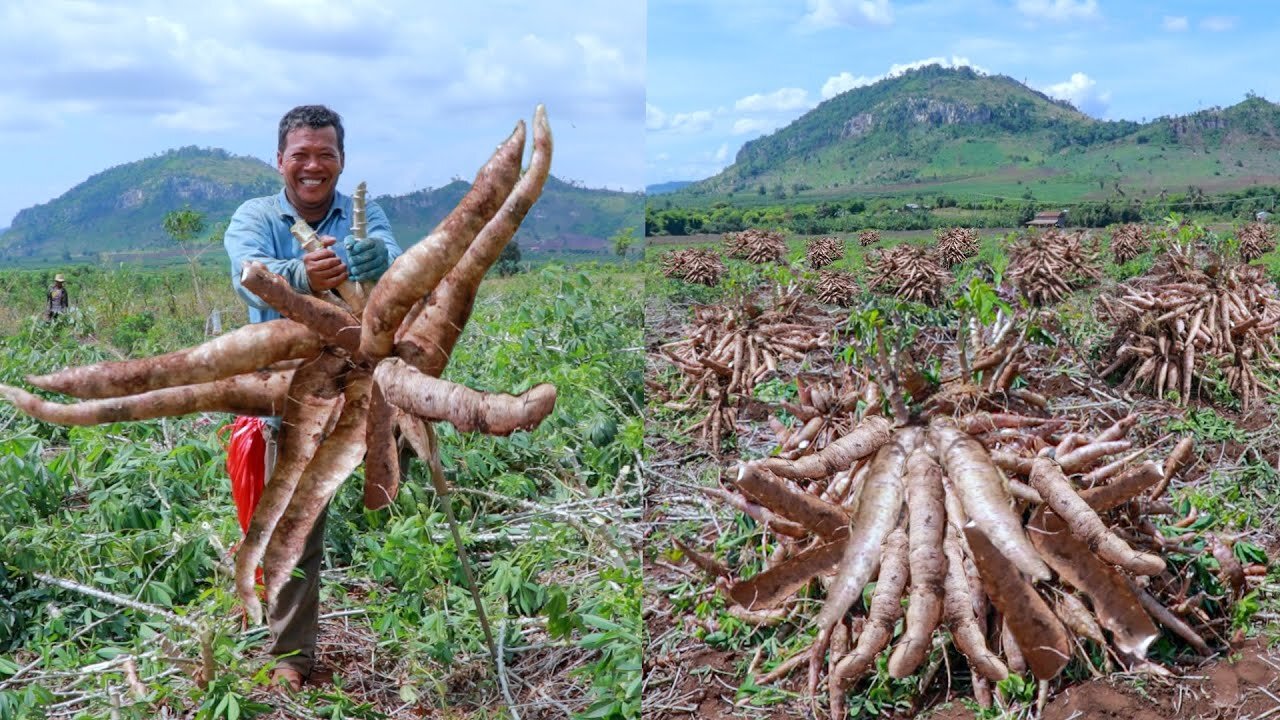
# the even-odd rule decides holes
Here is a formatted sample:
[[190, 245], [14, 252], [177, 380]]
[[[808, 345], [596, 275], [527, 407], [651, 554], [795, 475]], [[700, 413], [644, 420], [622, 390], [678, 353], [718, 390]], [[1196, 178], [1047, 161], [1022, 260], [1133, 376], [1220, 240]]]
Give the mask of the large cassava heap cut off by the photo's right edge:
[[1280, 301], [1262, 268], [1175, 249], [1098, 301], [1116, 327], [1102, 375], [1123, 372], [1121, 392], [1176, 391], [1185, 406], [1193, 393], [1211, 397], [1204, 380], [1221, 373], [1247, 410], [1262, 398], [1256, 369], [1280, 369]]

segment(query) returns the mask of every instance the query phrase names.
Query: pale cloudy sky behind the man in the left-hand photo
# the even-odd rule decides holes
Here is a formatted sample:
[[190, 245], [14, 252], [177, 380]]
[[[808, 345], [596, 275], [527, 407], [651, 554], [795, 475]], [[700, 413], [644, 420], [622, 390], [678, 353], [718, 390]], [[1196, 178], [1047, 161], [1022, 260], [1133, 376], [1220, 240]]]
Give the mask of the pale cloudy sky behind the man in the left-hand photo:
[[645, 4], [5, 0], [0, 227], [113, 165], [197, 145], [274, 165], [289, 108], [347, 126], [339, 187], [470, 181], [547, 104], [552, 173], [644, 187]]

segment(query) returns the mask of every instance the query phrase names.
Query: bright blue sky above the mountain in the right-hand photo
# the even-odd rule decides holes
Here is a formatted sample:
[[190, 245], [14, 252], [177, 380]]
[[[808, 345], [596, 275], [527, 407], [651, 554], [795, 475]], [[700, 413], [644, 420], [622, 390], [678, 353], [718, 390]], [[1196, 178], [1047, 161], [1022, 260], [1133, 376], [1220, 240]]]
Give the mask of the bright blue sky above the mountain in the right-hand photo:
[[1261, 1], [649, 0], [648, 184], [710, 177], [818, 102], [936, 61], [1005, 74], [1103, 119], [1280, 101]]

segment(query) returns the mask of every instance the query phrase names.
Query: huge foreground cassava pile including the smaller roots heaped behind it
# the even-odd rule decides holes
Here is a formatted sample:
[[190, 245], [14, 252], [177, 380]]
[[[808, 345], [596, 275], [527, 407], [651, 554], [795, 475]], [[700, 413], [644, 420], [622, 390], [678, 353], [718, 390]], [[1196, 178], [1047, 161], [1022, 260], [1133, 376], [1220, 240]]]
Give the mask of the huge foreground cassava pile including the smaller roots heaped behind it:
[[[765, 650], [756, 684], [806, 666], [809, 693], [824, 680], [831, 716], [844, 717], [849, 693], [881, 661], [892, 678], [922, 674], [922, 689], [946, 673], [940, 682], [951, 688], [948, 648], [988, 706], [1010, 673], [1048, 680], [1073, 660], [1094, 674], [1100, 662], [1165, 674], [1148, 659], [1160, 628], [1211, 653], [1261, 568], [1243, 568], [1225, 538], [1193, 550], [1153, 523], [1174, 512], [1162, 495], [1194, 461], [1193, 441], [1158, 457], [1129, 439], [1135, 415], [1047, 415], [1046, 398], [1011, 387], [1019, 369], [1034, 370], [1029, 331], [1028, 319], [1002, 314], [978, 327], [965, 354], [945, 354], [940, 386], [913, 383], [909, 360], [886, 384], [883, 352], [865, 375], [797, 378], [799, 400], [780, 407], [794, 423], [771, 418], [777, 448], [740, 462], [727, 488], [705, 491], [767, 538], [763, 569], [742, 571], [678, 543], [716, 577], [727, 612], [815, 630], [790, 657]], [[915, 411], [883, 416], [904, 391]], [[1172, 565], [1187, 553], [1217, 562], [1226, 597], [1212, 606], [1189, 597]]]

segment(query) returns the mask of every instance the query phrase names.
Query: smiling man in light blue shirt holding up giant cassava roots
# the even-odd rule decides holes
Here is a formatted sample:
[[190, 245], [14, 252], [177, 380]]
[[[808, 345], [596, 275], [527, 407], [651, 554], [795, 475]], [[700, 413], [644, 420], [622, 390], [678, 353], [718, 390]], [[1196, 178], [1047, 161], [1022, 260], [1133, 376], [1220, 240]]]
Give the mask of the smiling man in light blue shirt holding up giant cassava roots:
[[[323, 105], [301, 105], [285, 113], [280, 118], [275, 154], [275, 165], [284, 179], [284, 187], [275, 195], [246, 201], [232, 217], [224, 245], [230, 259], [232, 287], [248, 305], [251, 323], [274, 320], [280, 314], [241, 284], [241, 269], [246, 261], [265, 264], [298, 292], [323, 295], [333, 292], [347, 279], [378, 281], [401, 254], [387, 214], [371, 200], [365, 209], [367, 238], [357, 241], [351, 234], [352, 199], [338, 192], [338, 176], [342, 174], [346, 160], [343, 135], [342, 118]], [[289, 227], [298, 219], [306, 220], [316, 231], [324, 243], [323, 249], [307, 252], [293, 238]], [[236, 425], [239, 429], [250, 423], [261, 427], [261, 432], [266, 434], [261, 469], [262, 477], [270, 478], [275, 465], [280, 419], [268, 418], [264, 423], [241, 418]], [[239, 456], [229, 454], [229, 457]], [[234, 469], [232, 474], [234, 488]], [[238, 495], [236, 500], [238, 505], [242, 502]], [[253, 502], [256, 497], [250, 501], [251, 505]], [[243, 523], [244, 520], [242, 528]], [[321, 679], [319, 674], [314, 676], [312, 671], [320, 615], [324, 529], [325, 515], [321, 514], [298, 561], [301, 575], [296, 573], [285, 583], [279, 601], [274, 607], [268, 607], [266, 612], [271, 630], [268, 652], [279, 659], [271, 680], [293, 691], [301, 689], [308, 679]]]

